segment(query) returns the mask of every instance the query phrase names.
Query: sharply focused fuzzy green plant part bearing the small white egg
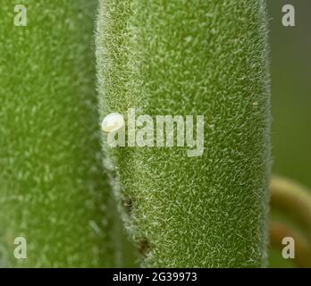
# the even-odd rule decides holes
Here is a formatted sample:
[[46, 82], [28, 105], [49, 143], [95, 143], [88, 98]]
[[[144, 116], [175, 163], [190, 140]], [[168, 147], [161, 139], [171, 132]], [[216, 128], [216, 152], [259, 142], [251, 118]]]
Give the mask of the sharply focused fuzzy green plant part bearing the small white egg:
[[266, 22], [264, 0], [100, 0], [102, 117], [129, 108], [153, 118], [205, 116], [203, 156], [181, 147], [111, 148], [103, 139], [143, 266], [265, 265]]

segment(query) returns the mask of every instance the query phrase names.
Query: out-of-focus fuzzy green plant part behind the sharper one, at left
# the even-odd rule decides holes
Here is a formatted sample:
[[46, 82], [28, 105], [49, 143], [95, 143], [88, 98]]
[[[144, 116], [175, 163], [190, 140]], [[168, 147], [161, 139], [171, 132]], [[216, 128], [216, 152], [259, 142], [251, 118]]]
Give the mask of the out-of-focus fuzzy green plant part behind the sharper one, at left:
[[[1, 3], [2, 266], [120, 265], [98, 138], [96, 3]], [[27, 8], [26, 27], [13, 24], [15, 4]], [[27, 259], [13, 256], [16, 237]]]

